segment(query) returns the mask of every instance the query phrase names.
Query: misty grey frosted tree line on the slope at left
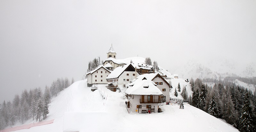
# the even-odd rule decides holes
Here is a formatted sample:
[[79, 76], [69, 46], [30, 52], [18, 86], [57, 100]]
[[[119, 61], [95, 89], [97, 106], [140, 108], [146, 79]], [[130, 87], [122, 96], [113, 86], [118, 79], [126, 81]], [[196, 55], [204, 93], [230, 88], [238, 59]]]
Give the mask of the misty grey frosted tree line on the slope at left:
[[[74, 83], [74, 78], [71, 84]], [[49, 114], [49, 103], [52, 97], [70, 85], [68, 78], [58, 78], [52, 82], [51, 87], [45, 86], [44, 93], [41, 87], [22, 91], [16, 94], [11, 101], [5, 101], [0, 105], [0, 130], [12, 126], [16, 121], [22, 124], [28, 119], [42, 121]]]

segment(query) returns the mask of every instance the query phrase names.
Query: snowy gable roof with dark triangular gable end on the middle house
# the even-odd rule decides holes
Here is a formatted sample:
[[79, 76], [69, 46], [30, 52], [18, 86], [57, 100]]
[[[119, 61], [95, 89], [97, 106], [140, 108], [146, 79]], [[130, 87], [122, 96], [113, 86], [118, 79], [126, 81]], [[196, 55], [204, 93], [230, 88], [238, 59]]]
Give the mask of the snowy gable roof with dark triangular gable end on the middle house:
[[[127, 65], [124, 65], [124, 67], [121, 67], [121, 66], [117, 67], [108, 75], [106, 79], [118, 78], [124, 71], [126, 71], [129, 68], [132, 68], [135, 71], [135, 68], [132, 64], [127, 64]], [[137, 73], [139, 72], [137, 71]]]

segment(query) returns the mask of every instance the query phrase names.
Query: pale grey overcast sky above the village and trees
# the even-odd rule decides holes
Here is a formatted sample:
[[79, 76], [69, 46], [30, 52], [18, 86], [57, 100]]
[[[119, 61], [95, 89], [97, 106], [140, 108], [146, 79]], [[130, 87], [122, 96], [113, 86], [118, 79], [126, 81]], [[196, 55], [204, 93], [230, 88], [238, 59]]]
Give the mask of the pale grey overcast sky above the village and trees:
[[58, 77], [81, 80], [94, 57], [256, 60], [253, 0], [0, 0], [0, 103]]

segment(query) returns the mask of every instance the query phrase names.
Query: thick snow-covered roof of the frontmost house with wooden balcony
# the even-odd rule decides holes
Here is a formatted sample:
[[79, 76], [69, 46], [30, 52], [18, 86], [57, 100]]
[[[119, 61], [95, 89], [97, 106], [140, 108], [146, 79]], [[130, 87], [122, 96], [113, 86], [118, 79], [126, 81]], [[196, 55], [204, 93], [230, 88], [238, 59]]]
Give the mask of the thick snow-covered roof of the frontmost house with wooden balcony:
[[163, 95], [156, 84], [147, 79], [133, 82], [133, 85], [127, 88], [125, 93], [129, 95]]

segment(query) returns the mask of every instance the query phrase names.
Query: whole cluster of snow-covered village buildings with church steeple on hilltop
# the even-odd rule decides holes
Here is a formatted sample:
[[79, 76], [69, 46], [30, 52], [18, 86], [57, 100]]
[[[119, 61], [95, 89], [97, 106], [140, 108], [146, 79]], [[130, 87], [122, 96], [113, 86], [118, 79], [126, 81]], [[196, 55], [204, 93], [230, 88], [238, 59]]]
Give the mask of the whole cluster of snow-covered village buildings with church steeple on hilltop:
[[[101, 65], [86, 73], [87, 86], [107, 84], [113, 92], [125, 90], [128, 99], [127, 108], [132, 112], [158, 112], [158, 104], [170, 102], [171, 81], [177, 74], [159, 70], [146, 64], [142, 57], [116, 59], [116, 52], [111, 45], [107, 59]], [[92, 88], [93, 89], [93, 88]], [[93, 90], [92, 90], [93, 91]]]

